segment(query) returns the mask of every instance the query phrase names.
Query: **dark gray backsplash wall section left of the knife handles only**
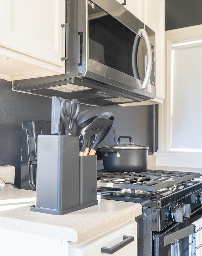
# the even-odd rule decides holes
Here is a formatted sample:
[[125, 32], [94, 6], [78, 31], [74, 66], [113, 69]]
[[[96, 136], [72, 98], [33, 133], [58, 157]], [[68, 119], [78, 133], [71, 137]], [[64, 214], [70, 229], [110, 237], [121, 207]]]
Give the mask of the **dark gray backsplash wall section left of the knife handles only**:
[[50, 120], [51, 99], [11, 90], [0, 80], [0, 165], [14, 165], [15, 184], [21, 181], [21, 127], [31, 119]]

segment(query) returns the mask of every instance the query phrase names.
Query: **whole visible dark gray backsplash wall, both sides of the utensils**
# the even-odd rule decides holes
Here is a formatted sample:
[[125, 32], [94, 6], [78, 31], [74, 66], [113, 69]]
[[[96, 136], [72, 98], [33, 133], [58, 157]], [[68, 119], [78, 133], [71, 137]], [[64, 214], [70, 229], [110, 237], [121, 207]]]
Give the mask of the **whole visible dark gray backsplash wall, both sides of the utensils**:
[[[117, 136], [133, 137], [135, 144], [152, 147], [152, 105], [135, 107], [90, 107], [98, 114], [114, 113]], [[15, 184], [21, 182], [21, 126], [24, 121], [38, 119], [50, 121], [51, 98], [18, 93], [11, 89], [11, 82], [0, 79], [0, 165], [14, 165]]]

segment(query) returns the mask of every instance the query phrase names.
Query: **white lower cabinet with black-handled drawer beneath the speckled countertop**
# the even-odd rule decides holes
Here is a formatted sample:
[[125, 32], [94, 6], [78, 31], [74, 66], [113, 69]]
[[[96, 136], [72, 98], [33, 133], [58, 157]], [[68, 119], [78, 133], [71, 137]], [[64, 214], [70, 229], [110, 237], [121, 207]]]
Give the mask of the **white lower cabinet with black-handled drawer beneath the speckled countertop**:
[[[137, 256], [137, 223], [130, 222], [82, 244], [7, 229], [0, 229], [0, 241], [0, 254], [4, 256]], [[102, 253], [103, 247], [114, 247], [115, 252]]]

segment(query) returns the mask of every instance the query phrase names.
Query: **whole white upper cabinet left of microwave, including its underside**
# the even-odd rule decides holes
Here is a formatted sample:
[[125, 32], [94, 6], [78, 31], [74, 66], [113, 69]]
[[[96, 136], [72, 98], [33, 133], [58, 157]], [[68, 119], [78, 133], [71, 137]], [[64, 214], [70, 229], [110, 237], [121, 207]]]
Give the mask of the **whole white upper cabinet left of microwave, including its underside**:
[[0, 78], [64, 74], [65, 0], [0, 0]]

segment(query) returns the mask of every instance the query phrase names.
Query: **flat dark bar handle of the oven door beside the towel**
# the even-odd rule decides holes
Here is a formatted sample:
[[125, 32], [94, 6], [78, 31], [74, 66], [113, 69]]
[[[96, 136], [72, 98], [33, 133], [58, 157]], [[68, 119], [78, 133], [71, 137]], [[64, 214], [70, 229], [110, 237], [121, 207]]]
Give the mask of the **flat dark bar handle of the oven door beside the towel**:
[[195, 233], [195, 229], [195, 225], [191, 224], [186, 228], [165, 235], [163, 237], [163, 246], [167, 246], [177, 240], [187, 237], [188, 235], [192, 235], [193, 233]]

